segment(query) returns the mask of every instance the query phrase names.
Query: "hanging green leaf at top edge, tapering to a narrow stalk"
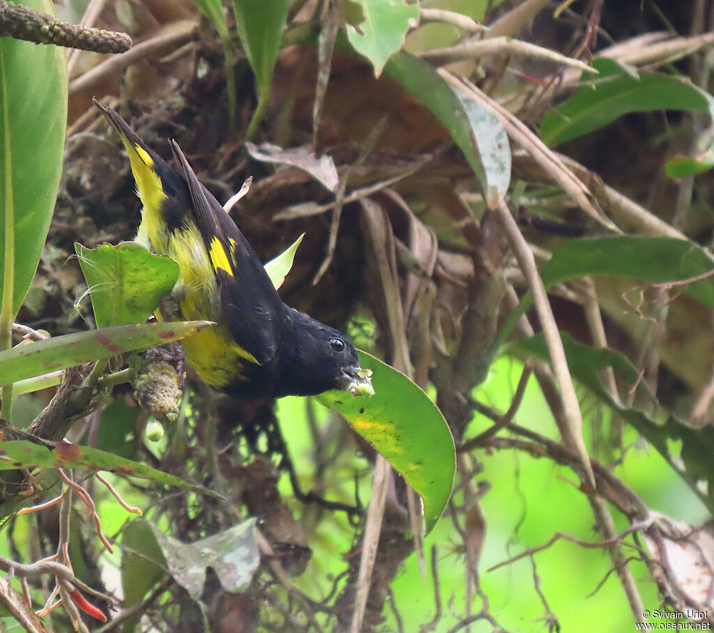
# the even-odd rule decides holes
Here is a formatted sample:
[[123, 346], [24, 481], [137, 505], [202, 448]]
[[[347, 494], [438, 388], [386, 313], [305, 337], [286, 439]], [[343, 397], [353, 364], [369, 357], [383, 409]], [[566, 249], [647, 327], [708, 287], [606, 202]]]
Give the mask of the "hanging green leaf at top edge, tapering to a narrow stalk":
[[258, 105], [246, 131], [248, 139], [253, 138], [268, 103], [290, 5], [290, 0], [233, 0], [236, 30], [258, 85]]

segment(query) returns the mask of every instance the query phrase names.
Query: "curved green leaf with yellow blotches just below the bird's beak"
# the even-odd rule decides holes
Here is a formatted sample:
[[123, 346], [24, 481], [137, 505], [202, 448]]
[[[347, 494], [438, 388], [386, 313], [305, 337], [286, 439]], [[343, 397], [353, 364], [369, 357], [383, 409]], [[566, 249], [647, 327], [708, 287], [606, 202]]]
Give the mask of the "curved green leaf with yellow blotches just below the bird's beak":
[[316, 399], [340, 412], [421, 495], [430, 532], [453, 489], [456, 450], [451, 431], [441, 411], [417, 385], [381, 360], [358, 353], [361, 366], [373, 372], [376, 395], [351, 397], [328, 391]]

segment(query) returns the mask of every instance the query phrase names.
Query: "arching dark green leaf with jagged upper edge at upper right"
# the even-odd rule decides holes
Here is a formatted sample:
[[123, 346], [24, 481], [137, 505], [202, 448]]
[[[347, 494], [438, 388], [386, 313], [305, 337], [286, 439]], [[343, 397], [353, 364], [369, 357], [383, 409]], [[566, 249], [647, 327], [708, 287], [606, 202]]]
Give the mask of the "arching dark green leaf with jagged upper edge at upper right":
[[690, 110], [714, 115], [714, 98], [685, 79], [660, 73], [638, 73], [614, 59], [593, 61], [599, 71], [590, 73], [583, 86], [555, 111], [543, 117], [540, 137], [553, 146], [602, 128], [629, 112]]

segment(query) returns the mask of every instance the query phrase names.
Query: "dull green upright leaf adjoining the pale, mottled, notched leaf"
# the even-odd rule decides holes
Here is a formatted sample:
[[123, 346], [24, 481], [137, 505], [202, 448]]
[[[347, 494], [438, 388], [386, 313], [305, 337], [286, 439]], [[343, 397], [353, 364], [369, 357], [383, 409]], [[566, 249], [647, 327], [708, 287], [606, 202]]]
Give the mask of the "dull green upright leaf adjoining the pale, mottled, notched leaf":
[[[137, 519], [121, 530], [121, 588], [124, 607], [139, 604], [166, 574], [166, 558], [156, 542], [149, 522]], [[124, 622], [124, 631], [133, 633], [141, 614]]]

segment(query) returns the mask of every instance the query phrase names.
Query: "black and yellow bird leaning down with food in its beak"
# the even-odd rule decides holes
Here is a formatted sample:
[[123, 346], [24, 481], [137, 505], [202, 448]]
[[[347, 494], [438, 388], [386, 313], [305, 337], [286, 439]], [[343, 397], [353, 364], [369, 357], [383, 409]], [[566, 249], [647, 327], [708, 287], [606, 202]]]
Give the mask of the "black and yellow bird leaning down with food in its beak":
[[[137, 240], [178, 263], [176, 319], [218, 325], [183, 340], [186, 360], [219, 390], [239, 397], [373, 393], [345, 335], [288, 307], [261, 260], [198, 181], [176, 141], [177, 170], [119, 114], [94, 101], [119, 132], [144, 205]], [[173, 317], [172, 317], [173, 318]]]

